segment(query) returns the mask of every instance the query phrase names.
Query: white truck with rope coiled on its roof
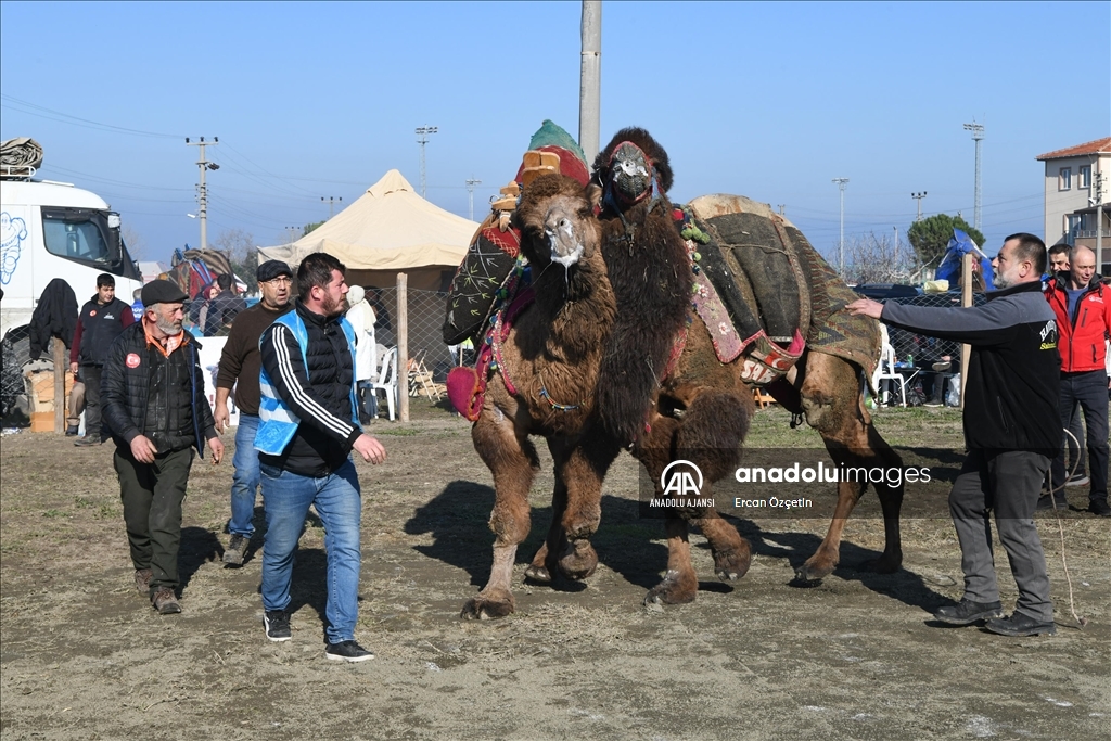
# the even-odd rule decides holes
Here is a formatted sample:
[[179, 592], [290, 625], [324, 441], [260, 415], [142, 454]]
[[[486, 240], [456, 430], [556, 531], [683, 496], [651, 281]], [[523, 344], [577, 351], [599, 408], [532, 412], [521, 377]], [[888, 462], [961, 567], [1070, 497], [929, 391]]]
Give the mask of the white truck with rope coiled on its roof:
[[[17, 147], [12, 147], [13, 142]], [[22, 157], [30, 143], [34, 154]], [[70, 183], [36, 180], [42, 149], [33, 140], [2, 144], [0, 164], [0, 338], [3, 342], [4, 411], [21, 394], [20, 369], [28, 361], [31, 314], [43, 289], [61, 278], [78, 309], [97, 292], [97, 276], [116, 277], [127, 303], [142, 276], [120, 237], [120, 214], [104, 199]], [[14, 162], [14, 163], [13, 163]], [[12, 388], [8, 388], [12, 387]]]

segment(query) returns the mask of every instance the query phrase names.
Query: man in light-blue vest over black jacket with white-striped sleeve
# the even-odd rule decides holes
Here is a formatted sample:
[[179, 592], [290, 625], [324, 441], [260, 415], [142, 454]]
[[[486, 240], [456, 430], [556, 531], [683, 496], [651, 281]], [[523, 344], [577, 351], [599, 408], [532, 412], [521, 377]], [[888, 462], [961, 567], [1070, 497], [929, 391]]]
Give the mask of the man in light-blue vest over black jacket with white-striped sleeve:
[[359, 427], [354, 346], [343, 318], [343, 264], [308, 256], [297, 271], [294, 310], [262, 333], [259, 378], [259, 451], [267, 538], [262, 549], [262, 608], [267, 638], [292, 638], [289, 613], [293, 554], [309, 507], [328, 538], [328, 619], [324, 655], [366, 661], [373, 653], [354, 640], [359, 620], [362, 495], [350, 453], [372, 463], [386, 450]]

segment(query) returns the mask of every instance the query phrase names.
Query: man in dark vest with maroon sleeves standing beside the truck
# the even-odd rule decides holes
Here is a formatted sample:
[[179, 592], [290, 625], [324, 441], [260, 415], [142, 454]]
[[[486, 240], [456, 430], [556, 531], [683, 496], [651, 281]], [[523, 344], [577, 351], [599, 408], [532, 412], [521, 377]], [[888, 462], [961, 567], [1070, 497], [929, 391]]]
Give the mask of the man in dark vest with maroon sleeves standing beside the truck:
[[[70, 344], [70, 371], [80, 368], [84, 382], [84, 437], [74, 445], [99, 445], [100, 373], [112, 340], [134, 323], [131, 307], [116, 298], [116, 279], [110, 273], [97, 276], [97, 294], [81, 308], [73, 342]], [[76, 430], [73, 430], [76, 432]]]

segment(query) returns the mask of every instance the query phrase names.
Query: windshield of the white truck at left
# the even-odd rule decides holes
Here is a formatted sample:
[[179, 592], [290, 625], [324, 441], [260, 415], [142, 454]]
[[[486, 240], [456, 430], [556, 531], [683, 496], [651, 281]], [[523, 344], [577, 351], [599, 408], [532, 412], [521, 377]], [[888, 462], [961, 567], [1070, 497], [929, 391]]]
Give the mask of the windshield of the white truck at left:
[[116, 276], [138, 278], [119, 230], [108, 226], [108, 213], [103, 211], [43, 207], [42, 237], [52, 254]]

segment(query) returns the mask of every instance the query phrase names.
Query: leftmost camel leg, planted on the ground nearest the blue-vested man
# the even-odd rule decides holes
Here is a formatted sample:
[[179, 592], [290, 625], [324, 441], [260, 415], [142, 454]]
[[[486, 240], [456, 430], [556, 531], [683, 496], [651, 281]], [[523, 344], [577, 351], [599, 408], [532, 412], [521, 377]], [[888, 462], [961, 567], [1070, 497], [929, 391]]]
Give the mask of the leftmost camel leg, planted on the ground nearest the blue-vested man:
[[527, 427], [493, 407], [487, 405], [471, 428], [474, 450], [493, 473], [494, 504], [490, 529], [493, 543], [493, 565], [490, 580], [482, 591], [463, 605], [461, 617], [487, 620], [503, 618], [514, 609], [510, 584], [517, 547], [529, 534], [529, 489], [539, 468], [537, 451], [527, 438]]

